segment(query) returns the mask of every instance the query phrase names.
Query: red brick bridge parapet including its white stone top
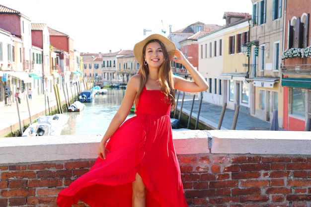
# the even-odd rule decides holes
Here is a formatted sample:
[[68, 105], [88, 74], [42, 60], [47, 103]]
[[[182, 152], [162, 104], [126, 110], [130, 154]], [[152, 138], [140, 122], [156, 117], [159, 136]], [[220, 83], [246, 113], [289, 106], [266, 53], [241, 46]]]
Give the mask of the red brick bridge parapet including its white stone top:
[[[175, 133], [174, 144], [189, 207], [311, 207], [310, 132], [298, 133], [300, 138], [296, 139], [290, 139], [293, 135], [284, 138], [281, 132], [270, 131], [269, 134], [283, 136], [282, 139], [256, 139], [247, 132], [238, 132], [239, 136], [236, 133]], [[93, 141], [89, 139], [92, 137], [84, 140], [83, 151], [90, 152], [97, 146], [98, 136]], [[20, 140], [16, 139], [16, 143]], [[8, 145], [1, 147], [4, 141], [1, 143], [0, 140], [0, 207], [56, 207], [58, 193], [93, 165], [95, 153], [83, 155], [79, 144], [80, 150], [75, 148], [74, 140], [81, 141], [78, 137], [60, 136], [53, 140], [58, 144], [49, 143], [46, 149], [38, 143], [34, 147], [28, 140], [27, 146], [16, 150]], [[39, 142], [39, 139], [35, 141]], [[240, 145], [240, 141], [244, 144]], [[65, 142], [71, 142], [72, 146], [68, 148]], [[250, 146], [260, 153], [253, 153]], [[67, 149], [68, 159], [63, 159], [62, 147]], [[55, 153], [44, 157], [43, 154], [49, 153], [48, 148]], [[10, 150], [11, 155], [6, 150]], [[29, 154], [25, 154], [27, 150]], [[277, 154], [275, 150], [284, 153]], [[194, 153], [196, 151], [198, 153]], [[32, 153], [37, 156], [33, 157]], [[18, 154], [31, 161], [7, 164]], [[77, 154], [80, 157], [73, 158]], [[7, 160], [3, 161], [5, 155]], [[62, 159], [53, 161], [56, 157]], [[84, 206], [82, 203], [76, 205]]]

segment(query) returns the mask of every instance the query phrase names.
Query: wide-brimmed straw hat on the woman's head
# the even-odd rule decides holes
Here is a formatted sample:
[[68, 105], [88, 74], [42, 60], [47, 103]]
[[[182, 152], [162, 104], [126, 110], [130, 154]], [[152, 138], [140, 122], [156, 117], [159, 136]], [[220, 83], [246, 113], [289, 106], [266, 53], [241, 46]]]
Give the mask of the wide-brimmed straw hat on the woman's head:
[[152, 34], [152, 35], [148, 36], [146, 39], [144, 39], [143, 41], [136, 43], [136, 45], [134, 46], [133, 53], [134, 53], [134, 56], [135, 56], [137, 62], [140, 65], [143, 65], [144, 61], [145, 61], [144, 56], [143, 56], [143, 48], [150, 40], [161, 41], [164, 44], [164, 46], [168, 52], [168, 56], [170, 58], [174, 57], [175, 52], [176, 52], [175, 44], [172, 41], [170, 41], [169, 39], [167, 39], [166, 37], [164, 37], [163, 35]]

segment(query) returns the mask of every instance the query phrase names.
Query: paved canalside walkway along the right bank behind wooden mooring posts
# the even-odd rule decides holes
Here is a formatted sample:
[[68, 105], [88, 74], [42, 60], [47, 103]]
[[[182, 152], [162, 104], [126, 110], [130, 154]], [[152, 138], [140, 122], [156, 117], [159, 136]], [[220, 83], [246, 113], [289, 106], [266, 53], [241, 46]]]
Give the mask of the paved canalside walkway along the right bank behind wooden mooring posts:
[[[176, 94], [177, 97], [177, 94]], [[182, 113], [189, 116], [191, 112], [191, 107], [193, 105], [191, 117], [197, 119], [200, 99], [195, 96], [193, 102], [193, 95], [185, 95], [184, 101], [182, 103], [182, 93], [180, 93], [178, 98], [177, 110], [180, 110], [182, 104]], [[199, 120], [209, 126], [210, 129], [218, 129], [219, 120], [221, 118], [223, 107], [210, 104], [208, 102], [202, 101]], [[235, 111], [231, 109], [226, 109], [223, 122], [221, 125], [221, 130], [232, 130], [234, 122]], [[175, 115], [176, 119], [178, 117]], [[260, 120], [256, 117], [239, 112], [237, 116], [237, 121], [235, 125], [235, 130], [270, 130], [270, 122]], [[279, 129], [282, 130], [282, 129]]]

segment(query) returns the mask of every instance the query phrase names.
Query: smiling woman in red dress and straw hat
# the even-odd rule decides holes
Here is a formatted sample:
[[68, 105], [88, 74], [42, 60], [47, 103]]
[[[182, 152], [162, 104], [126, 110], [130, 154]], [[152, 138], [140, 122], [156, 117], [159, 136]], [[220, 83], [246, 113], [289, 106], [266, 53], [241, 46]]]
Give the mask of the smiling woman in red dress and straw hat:
[[[91, 207], [188, 207], [170, 111], [175, 107], [175, 89], [200, 92], [208, 83], [162, 35], [150, 35], [133, 52], [141, 67], [128, 82], [94, 165], [59, 193], [60, 207], [79, 200]], [[170, 61], [182, 64], [193, 80], [173, 75]], [[136, 116], [125, 121], [134, 102]]]

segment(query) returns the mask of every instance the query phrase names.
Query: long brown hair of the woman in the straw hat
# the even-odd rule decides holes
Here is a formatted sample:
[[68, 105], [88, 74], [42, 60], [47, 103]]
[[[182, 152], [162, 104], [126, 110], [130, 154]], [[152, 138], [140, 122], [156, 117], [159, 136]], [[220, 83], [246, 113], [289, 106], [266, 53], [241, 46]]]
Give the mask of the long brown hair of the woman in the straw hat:
[[[172, 104], [171, 110], [175, 108], [175, 89], [174, 89], [174, 80], [173, 80], [173, 72], [170, 67], [170, 60], [169, 56], [167, 53], [167, 50], [165, 48], [165, 45], [159, 41], [159, 40], [150, 40], [143, 48], [143, 56], [146, 54], [146, 47], [149, 43], [152, 42], [157, 42], [160, 44], [161, 49], [163, 51], [163, 56], [164, 56], [164, 62], [160, 66], [159, 69], [159, 84], [160, 84], [160, 91], [165, 94], [165, 100], [167, 100], [167, 104]], [[149, 75], [149, 68], [148, 65], [145, 66], [144, 64], [140, 66], [138, 69], [138, 74], [141, 74], [141, 85], [140, 88], [137, 92], [136, 98], [135, 98], [135, 104], [138, 104], [138, 99], [140, 94], [142, 93], [146, 82], [147, 82], [147, 77]]]

